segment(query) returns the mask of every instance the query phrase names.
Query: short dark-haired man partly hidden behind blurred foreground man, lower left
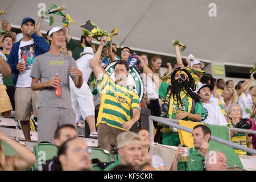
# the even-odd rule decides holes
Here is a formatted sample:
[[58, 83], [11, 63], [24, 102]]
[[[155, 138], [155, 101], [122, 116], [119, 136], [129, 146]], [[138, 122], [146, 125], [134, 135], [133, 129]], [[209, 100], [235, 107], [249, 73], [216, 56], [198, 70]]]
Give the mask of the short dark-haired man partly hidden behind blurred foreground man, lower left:
[[[54, 144], [57, 148], [60, 148], [65, 141], [75, 137], [77, 137], [75, 126], [68, 124], [62, 125], [55, 131]], [[39, 165], [36, 171], [51, 171], [52, 166], [58, 165], [57, 162], [57, 157], [53, 157], [51, 160], [47, 160], [45, 164]]]

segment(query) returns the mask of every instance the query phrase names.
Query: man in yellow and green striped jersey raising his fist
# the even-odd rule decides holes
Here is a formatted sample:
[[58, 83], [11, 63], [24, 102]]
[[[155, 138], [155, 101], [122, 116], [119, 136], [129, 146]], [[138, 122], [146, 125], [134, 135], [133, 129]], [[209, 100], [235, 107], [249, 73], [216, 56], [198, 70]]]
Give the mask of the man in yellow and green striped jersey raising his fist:
[[[102, 89], [96, 124], [98, 148], [112, 152], [113, 147], [117, 147], [117, 135], [129, 130], [139, 120], [141, 111], [138, 95], [126, 85], [129, 65], [123, 60], [114, 65], [114, 82], [99, 64], [103, 47], [104, 45], [100, 44], [93, 59], [90, 60], [90, 65]], [[130, 110], [133, 110], [133, 118], [130, 117]]]

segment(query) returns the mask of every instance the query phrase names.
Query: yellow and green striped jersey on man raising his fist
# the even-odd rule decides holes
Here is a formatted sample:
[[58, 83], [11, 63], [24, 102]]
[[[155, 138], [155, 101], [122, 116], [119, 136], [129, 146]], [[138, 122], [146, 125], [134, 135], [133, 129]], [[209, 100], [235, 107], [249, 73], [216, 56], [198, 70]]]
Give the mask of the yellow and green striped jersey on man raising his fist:
[[130, 110], [135, 108], [141, 110], [138, 95], [129, 89], [129, 86], [117, 84], [106, 74], [99, 85], [102, 88], [102, 96], [96, 126], [106, 123], [117, 129], [125, 130], [121, 123], [131, 119]]

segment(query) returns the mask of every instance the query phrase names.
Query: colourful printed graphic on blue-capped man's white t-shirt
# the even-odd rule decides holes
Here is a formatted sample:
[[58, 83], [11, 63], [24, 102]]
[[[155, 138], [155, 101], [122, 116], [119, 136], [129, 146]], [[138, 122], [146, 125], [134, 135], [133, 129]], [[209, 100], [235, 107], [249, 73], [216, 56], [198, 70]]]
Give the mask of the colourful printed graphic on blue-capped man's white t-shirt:
[[35, 60], [35, 43], [29, 44], [24, 47], [19, 47], [20, 49], [20, 57], [19, 62], [26, 61], [26, 70], [30, 70], [33, 67]]

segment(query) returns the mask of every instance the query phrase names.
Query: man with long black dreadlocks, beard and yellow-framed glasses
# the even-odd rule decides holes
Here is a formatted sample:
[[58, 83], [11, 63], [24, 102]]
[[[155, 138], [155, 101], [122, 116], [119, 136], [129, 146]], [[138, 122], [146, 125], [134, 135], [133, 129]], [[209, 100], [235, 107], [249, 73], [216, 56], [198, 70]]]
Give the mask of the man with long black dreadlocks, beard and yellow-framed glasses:
[[[142, 62], [144, 72], [155, 82], [159, 88], [159, 95], [164, 100], [162, 117], [171, 119], [182, 119], [185, 121], [200, 121], [205, 114], [200, 97], [193, 92], [195, 81], [191, 74], [185, 69], [178, 67], [172, 73], [171, 85], [160, 80], [160, 78]], [[179, 134], [174, 127], [163, 126], [163, 144], [178, 146], [180, 144]]]

